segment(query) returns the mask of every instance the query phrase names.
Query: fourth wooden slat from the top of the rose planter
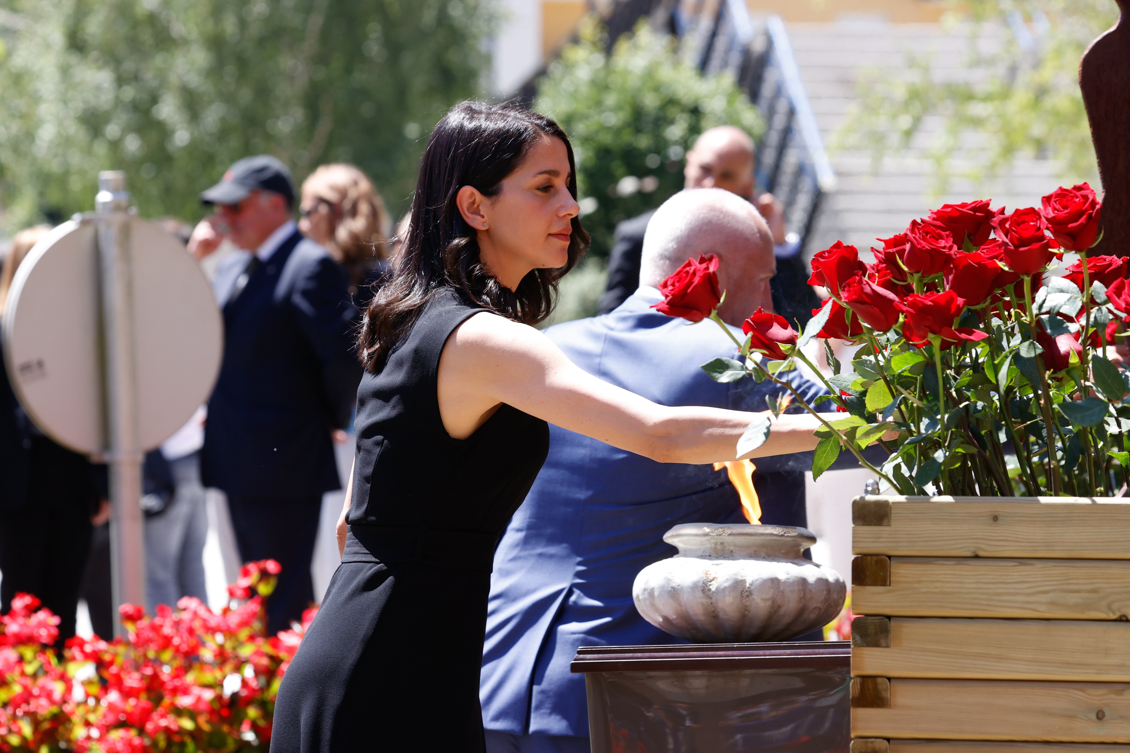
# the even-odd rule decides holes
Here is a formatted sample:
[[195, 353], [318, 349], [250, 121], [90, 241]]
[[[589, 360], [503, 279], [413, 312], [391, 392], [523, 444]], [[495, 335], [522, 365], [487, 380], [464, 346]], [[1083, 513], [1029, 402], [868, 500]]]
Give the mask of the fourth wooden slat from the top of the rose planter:
[[853, 708], [852, 736], [1130, 743], [1130, 684], [892, 680], [890, 708]]

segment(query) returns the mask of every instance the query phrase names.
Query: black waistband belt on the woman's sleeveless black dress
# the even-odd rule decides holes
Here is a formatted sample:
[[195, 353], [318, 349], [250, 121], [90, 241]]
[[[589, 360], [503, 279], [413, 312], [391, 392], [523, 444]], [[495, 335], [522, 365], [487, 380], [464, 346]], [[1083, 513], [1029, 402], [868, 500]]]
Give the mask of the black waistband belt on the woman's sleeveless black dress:
[[443, 568], [494, 570], [498, 536], [472, 531], [350, 525], [342, 562], [424, 562]]

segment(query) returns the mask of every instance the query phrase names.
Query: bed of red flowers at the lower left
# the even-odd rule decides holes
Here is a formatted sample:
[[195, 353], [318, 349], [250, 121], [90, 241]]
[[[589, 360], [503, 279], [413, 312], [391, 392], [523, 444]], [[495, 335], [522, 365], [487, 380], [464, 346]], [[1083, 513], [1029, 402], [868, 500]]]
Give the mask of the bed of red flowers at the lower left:
[[279, 682], [316, 613], [269, 638], [263, 599], [279, 566], [243, 566], [218, 613], [197, 598], [146, 616], [121, 608], [124, 638], [72, 638], [19, 594], [0, 618], [0, 751], [267, 751]]

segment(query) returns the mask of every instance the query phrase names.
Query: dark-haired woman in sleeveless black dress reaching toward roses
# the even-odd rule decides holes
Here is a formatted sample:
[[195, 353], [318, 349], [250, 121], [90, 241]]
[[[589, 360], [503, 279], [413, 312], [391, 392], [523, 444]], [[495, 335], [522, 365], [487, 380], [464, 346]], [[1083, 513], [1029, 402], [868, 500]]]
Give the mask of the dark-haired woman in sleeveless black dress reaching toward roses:
[[[573, 151], [547, 117], [464, 103], [424, 152], [411, 227], [360, 334], [348, 535], [279, 689], [272, 753], [481, 753], [495, 543], [547, 421], [647, 457], [732, 459], [748, 413], [666, 408], [571, 364], [531, 324], [588, 235]], [[756, 455], [812, 449], [781, 415]]]

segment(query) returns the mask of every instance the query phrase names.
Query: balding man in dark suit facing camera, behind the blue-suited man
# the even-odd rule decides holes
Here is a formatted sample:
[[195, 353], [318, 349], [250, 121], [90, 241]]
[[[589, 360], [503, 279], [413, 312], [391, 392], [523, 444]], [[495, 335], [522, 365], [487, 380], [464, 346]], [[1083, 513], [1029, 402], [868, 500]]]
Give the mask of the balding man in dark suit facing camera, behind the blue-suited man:
[[[723, 189], [751, 202], [768, 224], [773, 235], [777, 277], [773, 281], [773, 308], [797, 326], [811, 318], [820, 305], [808, 286], [808, 270], [800, 256], [800, 244], [785, 240], [784, 209], [770, 193], [754, 196], [754, 140], [741, 129], [720, 125], [704, 131], [687, 152], [683, 170], [687, 189]], [[599, 314], [607, 314], [640, 284], [640, 256], [643, 236], [654, 212], [644, 212], [616, 226], [616, 243], [608, 259], [608, 288], [600, 299]], [[770, 306], [766, 304], [766, 310]]]

